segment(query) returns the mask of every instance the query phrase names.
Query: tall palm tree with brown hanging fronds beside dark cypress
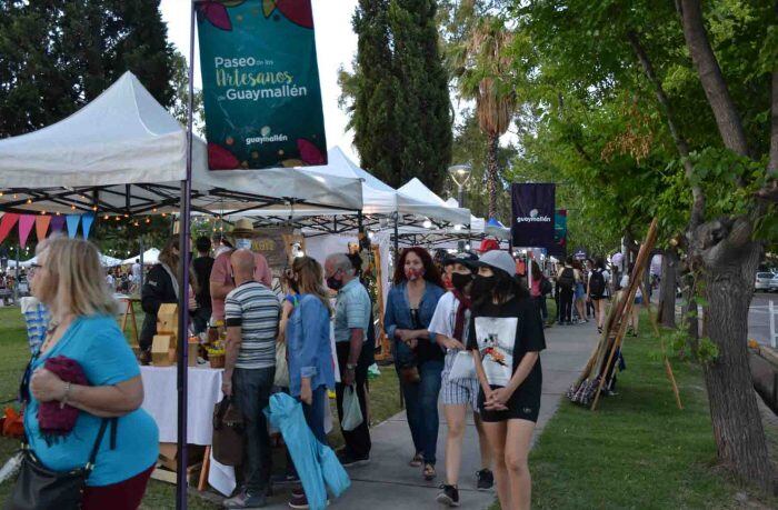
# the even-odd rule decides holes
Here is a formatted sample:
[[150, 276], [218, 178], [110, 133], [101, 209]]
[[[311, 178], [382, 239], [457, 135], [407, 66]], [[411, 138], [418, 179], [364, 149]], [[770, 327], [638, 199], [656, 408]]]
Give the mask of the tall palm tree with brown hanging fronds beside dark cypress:
[[508, 131], [517, 106], [507, 51], [512, 41], [513, 33], [500, 17], [483, 16], [469, 29], [467, 38], [455, 46], [451, 56], [459, 93], [463, 99], [476, 101], [478, 126], [488, 139], [489, 218], [497, 216], [498, 143]]

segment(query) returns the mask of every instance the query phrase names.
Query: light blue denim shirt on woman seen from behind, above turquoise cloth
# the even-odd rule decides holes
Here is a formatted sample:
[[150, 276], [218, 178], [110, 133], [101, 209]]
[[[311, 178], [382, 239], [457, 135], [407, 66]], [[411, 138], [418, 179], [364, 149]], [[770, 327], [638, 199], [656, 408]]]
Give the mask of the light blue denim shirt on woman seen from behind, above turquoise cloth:
[[300, 379], [303, 377], [311, 379], [312, 390], [322, 384], [335, 389], [329, 310], [313, 294], [296, 298], [295, 309], [287, 322], [289, 391], [293, 397], [299, 397]]

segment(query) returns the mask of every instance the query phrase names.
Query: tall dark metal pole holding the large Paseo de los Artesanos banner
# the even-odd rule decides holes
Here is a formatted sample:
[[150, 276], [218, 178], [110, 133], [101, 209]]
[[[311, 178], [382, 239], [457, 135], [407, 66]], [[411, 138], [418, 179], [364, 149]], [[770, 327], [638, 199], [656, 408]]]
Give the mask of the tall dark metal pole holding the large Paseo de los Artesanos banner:
[[187, 509], [187, 396], [189, 368], [189, 231], [192, 192], [192, 100], [194, 97], [194, 2], [189, 6], [189, 98], [187, 104], [187, 176], [181, 182], [181, 237], [179, 247], [179, 313], [178, 313], [178, 459], [176, 473], [176, 508]]

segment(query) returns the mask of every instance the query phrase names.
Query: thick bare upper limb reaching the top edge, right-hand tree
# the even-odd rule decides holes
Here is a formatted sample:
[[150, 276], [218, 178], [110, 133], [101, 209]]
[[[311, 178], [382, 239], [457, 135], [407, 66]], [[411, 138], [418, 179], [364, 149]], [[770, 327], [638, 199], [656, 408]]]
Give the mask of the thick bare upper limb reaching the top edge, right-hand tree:
[[742, 121], [708, 40], [700, 0], [677, 0], [676, 7], [680, 8], [684, 38], [724, 144], [740, 156], [749, 156]]

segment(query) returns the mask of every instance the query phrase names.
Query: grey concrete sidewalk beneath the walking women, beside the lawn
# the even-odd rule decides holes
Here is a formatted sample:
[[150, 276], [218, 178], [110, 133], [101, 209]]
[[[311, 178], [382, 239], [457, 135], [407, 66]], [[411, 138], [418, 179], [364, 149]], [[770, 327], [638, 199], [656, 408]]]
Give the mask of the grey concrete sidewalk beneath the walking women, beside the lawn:
[[[597, 343], [594, 321], [581, 326], [555, 326], [546, 330], [547, 350], [540, 354], [543, 370], [543, 390], [540, 417], [535, 439], [559, 408], [565, 391], [580, 374], [589, 353]], [[368, 466], [348, 470], [352, 486], [333, 508], [348, 510], [381, 509], [439, 509], [435, 501], [438, 487], [445, 480], [446, 422], [440, 413], [438, 436], [438, 478], [427, 482], [420, 468], [411, 468], [408, 461], [413, 456], [413, 444], [405, 412], [371, 429], [372, 452]], [[463, 508], [486, 509], [495, 502], [493, 491], [476, 490], [475, 473], [480, 469], [478, 437], [472, 419], [465, 432], [462, 464], [459, 481], [459, 499]], [[275, 496], [268, 508], [286, 507], [288, 494]]]

